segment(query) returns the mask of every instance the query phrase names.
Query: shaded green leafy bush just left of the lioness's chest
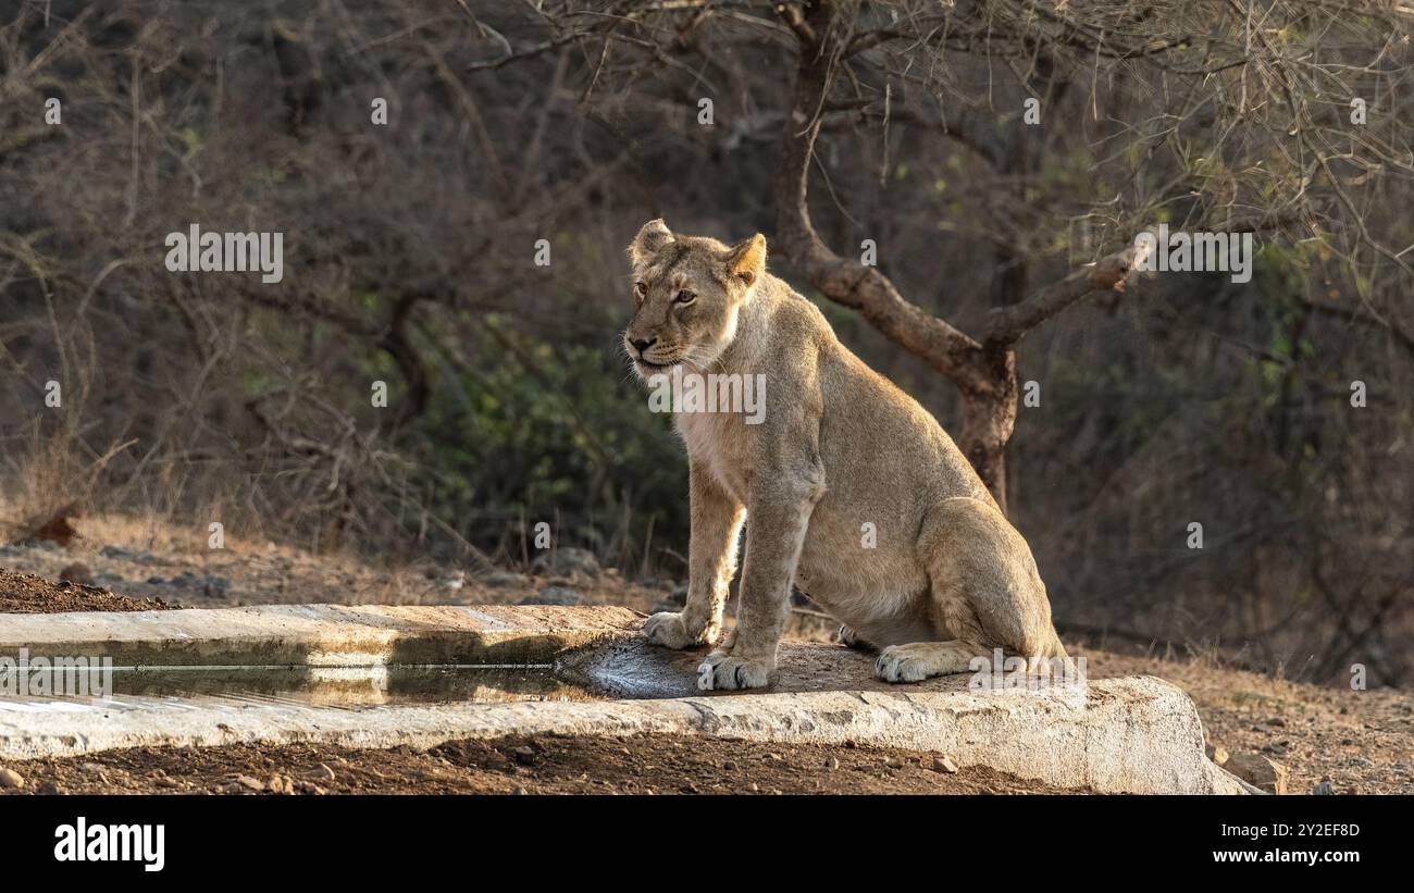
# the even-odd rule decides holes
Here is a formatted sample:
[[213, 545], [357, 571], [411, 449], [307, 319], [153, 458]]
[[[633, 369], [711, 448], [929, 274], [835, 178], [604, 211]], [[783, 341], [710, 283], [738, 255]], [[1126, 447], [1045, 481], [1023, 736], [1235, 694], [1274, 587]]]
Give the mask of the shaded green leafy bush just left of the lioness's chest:
[[667, 415], [648, 410], [618, 350], [550, 343], [489, 317], [472, 366], [434, 390], [407, 437], [428, 509], [495, 543], [520, 520], [566, 544], [641, 554], [687, 541], [687, 465]]

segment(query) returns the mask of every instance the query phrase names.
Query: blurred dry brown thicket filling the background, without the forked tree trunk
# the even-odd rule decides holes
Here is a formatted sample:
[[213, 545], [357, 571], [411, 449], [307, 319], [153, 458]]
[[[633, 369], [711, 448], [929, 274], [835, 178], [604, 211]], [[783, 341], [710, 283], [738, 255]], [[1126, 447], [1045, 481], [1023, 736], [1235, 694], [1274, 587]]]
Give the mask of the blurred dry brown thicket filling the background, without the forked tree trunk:
[[[1007, 451], [1008, 511], [1063, 634], [1407, 684], [1411, 21], [1247, 7], [840, 3], [850, 64], [809, 205], [963, 331], [1145, 226], [1254, 232], [1249, 284], [1141, 277], [1019, 343], [1041, 406]], [[655, 216], [773, 237], [805, 4], [0, 10], [11, 520], [76, 502], [468, 568], [527, 562], [543, 520], [683, 576], [683, 451], [618, 346], [624, 246]], [[168, 273], [191, 223], [283, 232], [284, 280]], [[956, 435], [947, 380], [769, 263]]]

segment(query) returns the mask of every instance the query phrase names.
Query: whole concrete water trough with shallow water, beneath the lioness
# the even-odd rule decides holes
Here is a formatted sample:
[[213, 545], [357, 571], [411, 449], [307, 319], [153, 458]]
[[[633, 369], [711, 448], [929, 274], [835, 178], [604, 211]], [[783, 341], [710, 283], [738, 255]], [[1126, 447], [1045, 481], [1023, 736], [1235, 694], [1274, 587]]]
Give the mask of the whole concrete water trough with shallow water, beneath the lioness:
[[[946, 753], [1053, 786], [1250, 793], [1203, 755], [1193, 702], [1154, 677], [888, 685], [870, 656], [788, 643], [761, 692], [699, 692], [700, 653], [622, 608], [259, 606], [0, 615], [0, 668], [110, 658], [105, 697], [0, 684], [0, 759], [113, 747], [503, 735], [710, 735]], [[11, 681], [18, 670], [11, 671]]]

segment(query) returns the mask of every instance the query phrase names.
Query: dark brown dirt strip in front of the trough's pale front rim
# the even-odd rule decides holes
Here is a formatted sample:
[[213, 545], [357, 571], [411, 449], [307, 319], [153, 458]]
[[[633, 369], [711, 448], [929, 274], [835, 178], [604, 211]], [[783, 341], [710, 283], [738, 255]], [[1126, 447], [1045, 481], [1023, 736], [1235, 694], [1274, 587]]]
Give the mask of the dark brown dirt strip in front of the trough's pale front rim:
[[6, 763], [38, 794], [1053, 794], [986, 767], [870, 747], [670, 738], [503, 738], [349, 750], [112, 750]]

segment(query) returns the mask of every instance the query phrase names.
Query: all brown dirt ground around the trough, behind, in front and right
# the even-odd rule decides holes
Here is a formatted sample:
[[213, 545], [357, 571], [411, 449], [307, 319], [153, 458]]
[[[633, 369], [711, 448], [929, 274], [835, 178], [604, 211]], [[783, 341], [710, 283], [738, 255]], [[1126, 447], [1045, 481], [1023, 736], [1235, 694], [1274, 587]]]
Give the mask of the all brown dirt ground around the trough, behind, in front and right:
[[[617, 572], [575, 562], [532, 574], [493, 568], [472, 572], [431, 565], [385, 569], [349, 557], [311, 555], [274, 544], [228, 543], [230, 548], [212, 551], [182, 531], [122, 517], [79, 519], [76, 533], [66, 547], [49, 541], [0, 545], [0, 613], [151, 610], [175, 605], [216, 608], [269, 602], [609, 603], [646, 613], [667, 609], [682, 599], [682, 588], [673, 581], [625, 581]], [[6, 571], [6, 567], [13, 571]], [[57, 582], [64, 571], [82, 575], [93, 585], [82, 585], [78, 579], [66, 585]], [[160, 601], [148, 601], [154, 596]], [[795, 613], [790, 634], [819, 641], [830, 629], [833, 622], [827, 616], [803, 606]], [[1087, 649], [1080, 643], [1068, 646], [1073, 656], [1087, 658], [1092, 677], [1152, 674], [1184, 688], [1198, 705], [1210, 745], [1230, 753], [1257, 753], [1281, 763], [1291, 773], [1291, 793], [1311, 793], [1321, 783], [1329, 783], [1336, 794], [1414, 793], [1414, 692], [1290, 682], [1225, 667], [1210, 656], [1164, 658]], [[512, 760], [499, 769], [491, 767], [499, 766], [492, 750], [509, 753], [508, 747], [536, 745], [501, 742], [489, 750], [488, 745], [479, 743], [455, 746], [462, 749], [460, 753], [479, 753], [481, 759], [458, 757], [445, 747], [430, 755], [218, 747], [202, 752], [137, 750], [126, 756], [95, 755], [79, 760], [34, 763], [28, 769], [18, 763], [14, 766], [21, 774], [34, 774], [35, 784], [27, 790], [54, 784], [61, 790], [205, 791], [228, 784], [232, 774], [250, 774], [264, 783], [277, 773], [311, 781], [327, 791], [469, 793], [513, 791], [518, 787], [532, 793], [632, 791], [645, 784], [655, 786], [659, 793], [683, 790], [690, 784], [710, 791], [749, 791], [751, 783], [758, 790], [809, 791], [814, 790], [816, 781], [826, 791], [943, 791], [949, 790], [946, 786], [970, 783], [978, 786], [974, 790], [1041, 790], [1032, 781], [1017, 781], [995, 773], [963, 770], [939, 777], [939, 773], [926, 769], [915, 771], [921, 755], [902, 752], [843, 747], [827, 752], [735, 742], [679, 746], [655, 739], [590, 740], [583, 746], [570, 746], [563, 740], [542, 743], [547, 747], [543, 762]], [[575, 747], [581, 749], [575, 752]], [[624, 755], [624, 749], [629, 753]], [[502, 759], [509, 759], [506, 753]], [[766, 762], [769, 753], [779, 759]], [[904, 760], [899, 769], [888, 766], [895, 756]], [[820, 770], [829, 757], [839, 760], [840, 771]], [[324, 784], [308, 774], [311, 766], [320, 769], [320, 763], [338, 770], [339, 760], [348, 767], [344, 783]], [[471, 769], [472, 763], [475, 769]], [[748, 766], [752, 774], [727, 769], [728, 763]], [[769, 771], [778, 763], [781, 771]], [[655, 764], [659, 769], [652, 769]], [[102, 770], [107, 780], [85, 766], [110, 766]], [[622, 766], [632, 770], [622, 771]], [[158, 770], [174, 779], [161, 781], [160, 774], [153, 774]], [[386, 777], [380, 779], [379, 771]], [[665, 780], [645, 781], [649, 777], [645, 773]], [[182, 784], [189, 787], [180, 787]]]

